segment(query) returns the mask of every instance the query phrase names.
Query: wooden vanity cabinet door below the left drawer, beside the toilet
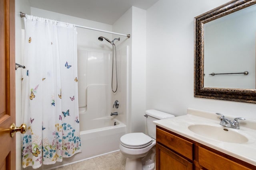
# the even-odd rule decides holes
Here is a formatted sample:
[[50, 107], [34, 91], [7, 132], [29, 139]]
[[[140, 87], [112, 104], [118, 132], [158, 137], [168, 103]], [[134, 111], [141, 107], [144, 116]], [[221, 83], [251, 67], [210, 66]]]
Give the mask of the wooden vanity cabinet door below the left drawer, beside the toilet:
[[193, 164], [178, 154], [156, 144], [156, 170], [192, 170]]

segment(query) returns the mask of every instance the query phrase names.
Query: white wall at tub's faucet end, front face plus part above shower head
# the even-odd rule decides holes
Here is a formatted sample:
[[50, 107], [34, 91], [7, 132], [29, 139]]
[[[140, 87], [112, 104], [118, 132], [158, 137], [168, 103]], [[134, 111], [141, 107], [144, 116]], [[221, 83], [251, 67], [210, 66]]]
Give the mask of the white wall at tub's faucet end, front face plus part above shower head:
[[131, 7], [113, 24], [113, 31], [130, 33], [128, 45], [127, 131], [145, 132], [146, 109], [146, 11]]

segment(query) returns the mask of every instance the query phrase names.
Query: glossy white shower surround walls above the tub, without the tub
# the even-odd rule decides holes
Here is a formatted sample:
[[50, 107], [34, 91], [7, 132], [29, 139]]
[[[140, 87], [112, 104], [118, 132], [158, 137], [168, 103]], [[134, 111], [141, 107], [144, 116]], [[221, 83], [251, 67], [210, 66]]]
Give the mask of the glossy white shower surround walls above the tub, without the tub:
[[[120, 41], [123, 40], [121, 39]], [[102, 41], [102, 45], [104, 43], [108, 42]], [[107, 117], [111, 112], [118, 112], [116, 119], [126, 123], [127, 53], [128, 49], [126, 46], [117, 50], [118, 90], [116, 93], [112, 93], [111, 51], [78, 49], [79, 114], [80, 117], [83, 117], [81, 119], [83, 123], [80, 126], [88, 126], [88, 123], [91, 124], [93, 119]], [[113, 84], [115, 83], [114, 78]], [[118, 109], [112, 108], [112, 100], [119, 100], [120, 107]]]

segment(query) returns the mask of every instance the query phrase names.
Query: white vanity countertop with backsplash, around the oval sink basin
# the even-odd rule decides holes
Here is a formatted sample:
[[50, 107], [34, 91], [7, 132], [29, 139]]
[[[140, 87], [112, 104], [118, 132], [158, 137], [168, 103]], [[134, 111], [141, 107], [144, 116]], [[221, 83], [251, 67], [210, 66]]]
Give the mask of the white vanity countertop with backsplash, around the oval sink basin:
[[[256, 121], [239, 120], [240, 129], [225, 127], [230, 131], [236, 131], [248, 138], [246, 143], [228, 143], [206, 138], [190, 131], [188, 126], [203, 124], [224, 127], [220, 125], [220, 116], [212, 112], [200, 111], [197, 109], [188, 109], [188, 114], [168, 119], [154, 121], [160, 127], [173, 131], [188, 139], [216, 149], [220, 152], [248, 162], [256, 166]], [[225, 117], [227, 117], [225, 115]], [[231, 120], [234, 117], [228, 117]], [[209, 132], [210, 133], [210, 132]]]

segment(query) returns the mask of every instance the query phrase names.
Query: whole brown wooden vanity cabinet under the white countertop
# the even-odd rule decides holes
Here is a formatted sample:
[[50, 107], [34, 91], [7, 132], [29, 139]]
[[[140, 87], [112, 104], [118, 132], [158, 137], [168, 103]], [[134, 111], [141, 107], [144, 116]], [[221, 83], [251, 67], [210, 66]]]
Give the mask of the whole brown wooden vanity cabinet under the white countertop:
[[156, 127], [156, 170], [256, 170], [256, 166]]

